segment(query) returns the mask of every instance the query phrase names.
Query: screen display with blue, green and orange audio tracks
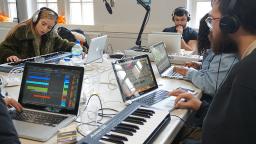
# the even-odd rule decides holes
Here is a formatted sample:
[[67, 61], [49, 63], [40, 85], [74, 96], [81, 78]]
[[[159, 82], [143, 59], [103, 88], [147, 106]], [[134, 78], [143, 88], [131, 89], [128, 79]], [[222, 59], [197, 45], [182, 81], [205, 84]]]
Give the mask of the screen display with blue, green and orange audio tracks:
[[26, 77], [23, 103], [73, 109], [78, 78], [76, 71], [31, 68]]

